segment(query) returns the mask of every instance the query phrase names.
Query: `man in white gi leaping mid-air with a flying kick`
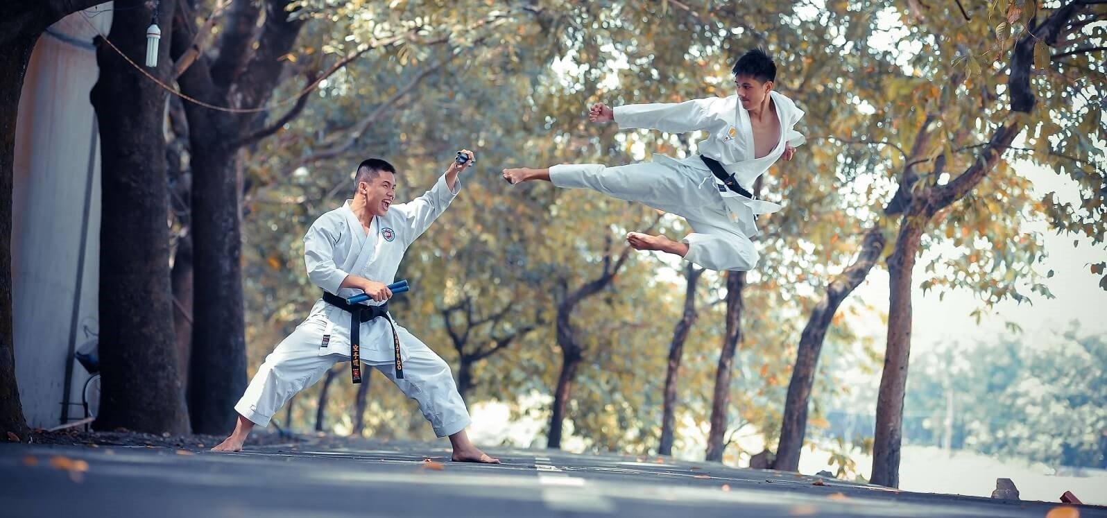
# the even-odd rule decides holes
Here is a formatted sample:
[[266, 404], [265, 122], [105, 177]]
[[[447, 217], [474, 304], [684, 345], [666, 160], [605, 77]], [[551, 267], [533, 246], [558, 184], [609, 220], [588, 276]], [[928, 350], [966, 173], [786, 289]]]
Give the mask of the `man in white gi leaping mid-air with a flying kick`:
[[547, 180], [557, 187], [589, 188], [614, 198], [646, 204], [683, 217], [692, 234], [680, 241], [640, 232], [627, 235], [638, 250], [660, 250], [712, 270], [751, 270], [758, 253], [749, 238], [757, 235], [756, 215], [775, 213], [777, 204], [753, 196], [754, 180], [777, 158], [790, 160], [804, 136], [795, 131], [804, 112], [773, 91], [776, 64], [762, 50], [746, 52], [734, 64], [737, 94], [683, 103], [631, 104], [610, 108], [596, 103], [592, 122], [615, 122], [620, 128], [669, 133], [707, 132], [700, 155], [677, 160], [606, 167], [600, 164], [556, 165], [546, 169], [504, 169], [510, 184]]

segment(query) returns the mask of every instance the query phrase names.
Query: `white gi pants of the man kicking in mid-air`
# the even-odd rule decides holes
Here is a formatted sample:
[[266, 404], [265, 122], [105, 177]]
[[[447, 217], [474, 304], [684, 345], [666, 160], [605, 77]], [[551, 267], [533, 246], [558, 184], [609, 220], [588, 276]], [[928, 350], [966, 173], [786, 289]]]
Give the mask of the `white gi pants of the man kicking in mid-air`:
[[550, 167], [550, 182], [557, 187], [592, 189], [686, 219], [692, 234], [681, 239], [689, 246], [685, 260], [711, 270], [752, 270], [759, 255], [753, 241], [731, 220], [713, 178], [708, 170], [656, 162], [615, 167], [600, 164]]

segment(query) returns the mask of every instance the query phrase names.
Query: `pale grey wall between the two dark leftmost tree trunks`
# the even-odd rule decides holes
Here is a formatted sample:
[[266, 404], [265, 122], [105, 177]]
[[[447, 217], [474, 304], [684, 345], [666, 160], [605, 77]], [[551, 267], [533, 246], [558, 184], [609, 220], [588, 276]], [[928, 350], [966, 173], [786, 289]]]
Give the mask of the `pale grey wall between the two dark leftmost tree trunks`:
[[[89, 92], [99, 69], [93, 27], [111, 3], [59, 21], [34, 48], [15, 135], [12, 207], [15, 377], [28, 424], [84, 416], [87, 373], [71, 351], [99, 332], [100, 139]], [[82, 19], [82, 17], [84, 17]]]

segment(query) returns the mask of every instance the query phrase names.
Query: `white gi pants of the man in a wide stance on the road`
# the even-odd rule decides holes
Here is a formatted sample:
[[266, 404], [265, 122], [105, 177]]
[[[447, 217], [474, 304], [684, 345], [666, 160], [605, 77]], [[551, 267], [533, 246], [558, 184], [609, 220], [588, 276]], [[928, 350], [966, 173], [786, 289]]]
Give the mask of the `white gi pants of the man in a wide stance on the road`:
[[[449, 364], [406, 329], [397, 325], [396, 333], [400, 346], [407, 353], [404, 377], [396, 379], [396, 367], [392, 362], [370, 365], [418, 403], [435, 435], [445, 437], [465, 429], [470, 423], [469, 413], [457, 392]], [[300, 324], [266, 356], [246, 393], [235, 405], [235, 411], [266, 427], [273, 414], [296, 393], [318, 382], [331, 365], [350, 361], [345, 354], [320, 355], [322, 338], [323, 330], [313, 322]], [[391, 336], [387, 345], [392, 348]]]

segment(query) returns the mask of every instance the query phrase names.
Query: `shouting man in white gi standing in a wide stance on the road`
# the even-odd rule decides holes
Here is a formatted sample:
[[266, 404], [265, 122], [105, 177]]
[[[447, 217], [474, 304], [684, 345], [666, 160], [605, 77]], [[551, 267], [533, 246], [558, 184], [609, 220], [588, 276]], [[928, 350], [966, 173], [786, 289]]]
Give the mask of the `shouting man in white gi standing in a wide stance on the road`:
[[[255, 425], [267, 426], [292, 395], [319, 381], [334, 363], [352, 361], [355, 383], [364, 362], [418, 402], [435, 434], [449, 437], [454, 460], [499, 463], [465, 434], [469, 414], [449, 365], [386, 310], [392, 297], [387, 284], [395, 280], [404, 251], [446, 210], [461, 187], [458, 174], [474, 162], [473, 152], [462, 153], [468, 157], [464, 165], [451, 162], [434, 187], [399, 205], [392, 205], [396, 196], [392, 164], [370, 158], [358, 166], [353, 199], [322, 215], [303, 237], [308, 277], [323, 289], [323, 298], [266, 358], [235, 405], [239, 414], [235, 432], [213, 450], [242, 449]], [[346, 304], [346, 298], [361, 293], [371, 300]]]

